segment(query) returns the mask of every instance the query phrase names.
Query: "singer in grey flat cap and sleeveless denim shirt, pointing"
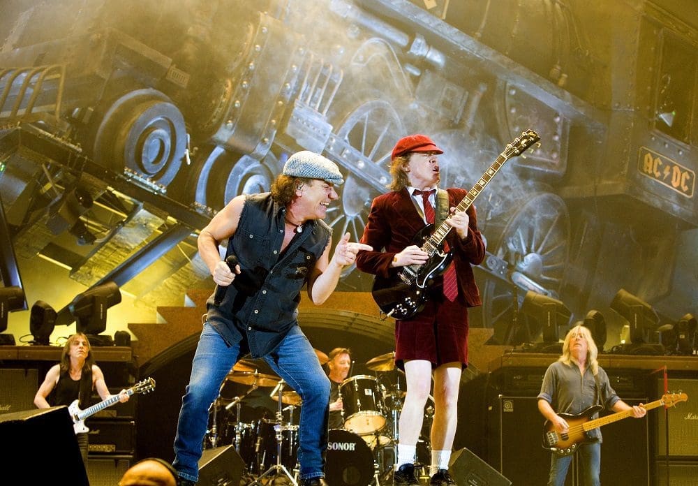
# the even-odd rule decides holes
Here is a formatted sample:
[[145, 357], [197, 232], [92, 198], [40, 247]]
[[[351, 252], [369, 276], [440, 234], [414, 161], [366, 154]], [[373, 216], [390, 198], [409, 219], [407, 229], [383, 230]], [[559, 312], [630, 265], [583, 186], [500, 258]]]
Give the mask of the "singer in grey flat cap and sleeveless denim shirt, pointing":
[[[263, 358], [303, 401], [299, 422], [302, 486], [325, 486], [329, 380], [298, 325], [300, 292], [320, 305], [343, 267], [371, 246], [343, 235], [332, 253], [332, 229], [322, 221], [344, 179], [320, 154], [292, 154], [271, 192], [233, 198], [201, 230], [198, 249], [217, 285], [182, 397], [174, 462], [179, 485], [198, 480], [209, 407], [235, 363]], [[227, 241], [225, 258], [219, 245]]]

